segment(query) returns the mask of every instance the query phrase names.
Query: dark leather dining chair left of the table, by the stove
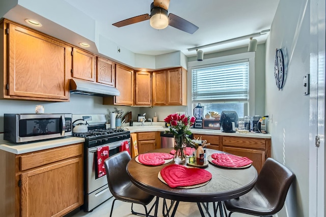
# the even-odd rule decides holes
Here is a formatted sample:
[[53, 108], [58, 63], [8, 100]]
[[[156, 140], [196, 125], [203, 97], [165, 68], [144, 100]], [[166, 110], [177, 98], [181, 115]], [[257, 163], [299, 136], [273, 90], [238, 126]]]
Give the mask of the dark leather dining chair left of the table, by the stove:
[[[129, 153], [127, 151], [122, 151], [114, 154], [104, 161], [108, 188], [115, 197], [112, 202], [110, 217], [112, 216], [113, 207], [116, 200], [131, 203], [132, 214], [153, 216], [149, 213], [155, 206], [157, 207], [158, 200], [156, 200], [149, 211], [147, 211], [146, 205], [153, 200], [154, 196], [147, 194], [131, 182], [126, 171], [126, 166], [130, 160], [131, 158]], [[135, 212], [132, 209], [134, 203], [143, 205], [145, 208], [145, 213]]]

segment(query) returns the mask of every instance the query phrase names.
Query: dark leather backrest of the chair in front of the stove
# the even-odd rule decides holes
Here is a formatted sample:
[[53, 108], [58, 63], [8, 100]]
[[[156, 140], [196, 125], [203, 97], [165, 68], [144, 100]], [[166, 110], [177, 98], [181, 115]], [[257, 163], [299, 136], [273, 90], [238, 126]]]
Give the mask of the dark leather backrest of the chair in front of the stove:
[[129, 153], [122, 151], [104, 161], [108, 188], [113, 196], [116, 196], [117, 193], [131, 182], [126, 171], [127, 164], [130, 160]]

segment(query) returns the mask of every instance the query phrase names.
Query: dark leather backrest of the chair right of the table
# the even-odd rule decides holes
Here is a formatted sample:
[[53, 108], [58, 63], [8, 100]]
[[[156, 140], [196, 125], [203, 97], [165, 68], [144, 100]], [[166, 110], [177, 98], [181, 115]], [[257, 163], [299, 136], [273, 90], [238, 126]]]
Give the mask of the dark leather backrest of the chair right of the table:
[[291, 170], [272, 158], [268, 158], [264, 163], [255, 188], [264, 195], [274, 213], [282, 209], [294, 177]]

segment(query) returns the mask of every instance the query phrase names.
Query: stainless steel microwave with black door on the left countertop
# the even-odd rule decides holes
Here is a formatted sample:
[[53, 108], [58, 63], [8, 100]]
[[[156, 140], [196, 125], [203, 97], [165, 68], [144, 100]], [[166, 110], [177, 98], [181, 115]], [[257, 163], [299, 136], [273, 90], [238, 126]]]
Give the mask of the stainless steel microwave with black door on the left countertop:
[[4, 139], [31, 142], [72, 135], [72, 114], [4, 114]]

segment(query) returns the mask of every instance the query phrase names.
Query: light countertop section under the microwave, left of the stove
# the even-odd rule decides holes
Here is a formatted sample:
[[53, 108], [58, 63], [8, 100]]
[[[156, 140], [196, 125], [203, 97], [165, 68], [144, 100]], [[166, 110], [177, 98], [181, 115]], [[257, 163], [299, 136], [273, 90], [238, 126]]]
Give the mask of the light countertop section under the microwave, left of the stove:
[[12, 143], [6, 140], [0, 140], [0, 150], [5, 150], [15, 154], [28, 153], [32, 151], [56, 148], [64, 145], [85, 142], [84, 138], [66, 136], [58, 139], [48, 139], [29, 143]]

